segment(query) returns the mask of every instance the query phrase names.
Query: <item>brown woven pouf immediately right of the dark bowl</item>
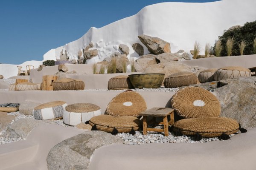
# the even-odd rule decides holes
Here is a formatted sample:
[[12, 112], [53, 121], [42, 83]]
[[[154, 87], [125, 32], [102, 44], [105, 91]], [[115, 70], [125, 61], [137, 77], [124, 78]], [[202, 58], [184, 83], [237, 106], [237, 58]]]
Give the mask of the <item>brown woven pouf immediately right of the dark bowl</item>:
[[182, 86], [194, 85], [198, 81], [194, 73], [181, 72], [171, 74], [164, 80], [164, 86], [166, 88], [178, 88]]

